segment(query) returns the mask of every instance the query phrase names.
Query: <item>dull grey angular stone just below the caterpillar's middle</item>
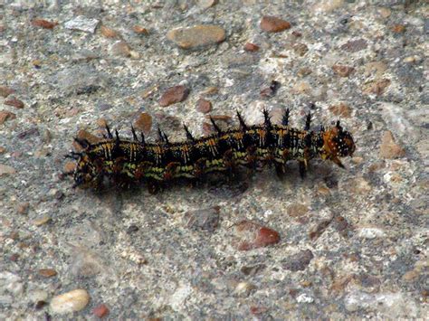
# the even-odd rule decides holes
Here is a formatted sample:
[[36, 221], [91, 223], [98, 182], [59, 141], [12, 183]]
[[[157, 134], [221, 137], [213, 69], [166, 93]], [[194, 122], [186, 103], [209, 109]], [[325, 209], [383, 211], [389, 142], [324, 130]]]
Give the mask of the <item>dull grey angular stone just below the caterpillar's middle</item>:
[[186, 226], [192, 230], [215, 231], [219, 225], [220, 207], [209, 207], [206, 209], [186, 212]]

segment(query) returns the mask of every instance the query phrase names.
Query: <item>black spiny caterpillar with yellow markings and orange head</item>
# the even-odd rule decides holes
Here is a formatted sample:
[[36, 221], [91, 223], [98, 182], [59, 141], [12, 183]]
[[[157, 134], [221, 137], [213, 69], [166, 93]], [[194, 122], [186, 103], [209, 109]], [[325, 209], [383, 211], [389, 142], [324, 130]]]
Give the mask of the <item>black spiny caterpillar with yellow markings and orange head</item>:
[[300, 175], [304, 177], [310, 159], [319, 157], [344, 167], [339, 157], [353, 156], [356, 149], [353, 137], [339, 120], [332, 127], [311, 131], [310, 113], [302, 130], [290, 127], [289, 109], [284, 111], [281, 125], [272, 124], [266, 109], [262, 113], [262, 125], [249, 126], [237, 111], [239, 127], [227, 130], [210, 118], [214, 133], [200, 138], [195, 138], [184, 125], [184, 142], [170, 142], [158, 128], [159, 140], [148, 143], [143, 133], [138, 137], [132, 126], [133, 138], [122, 139], [118, 130], [113, 136], [106, 126], [107, 135], [99, 143], [74, 138], [81, 151], [67, 155], [76, 160], [76, 166], [64, 174], [73, 176], [73, 187], [98, 189], [107, 178], [119, 185], [146, 182], [149, 191], [154, 191], [157, 184], [179, 178], [198, 180], [218, 172], [234, 175], [238, 166], [255, 169], [274, 165], [281, 175], [290, 160], [299, 162]]

